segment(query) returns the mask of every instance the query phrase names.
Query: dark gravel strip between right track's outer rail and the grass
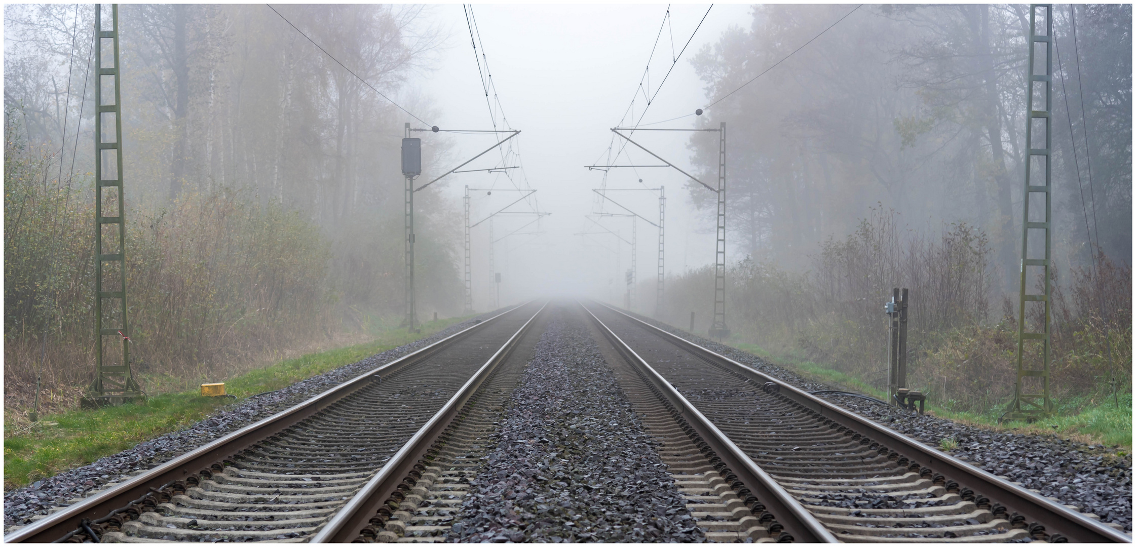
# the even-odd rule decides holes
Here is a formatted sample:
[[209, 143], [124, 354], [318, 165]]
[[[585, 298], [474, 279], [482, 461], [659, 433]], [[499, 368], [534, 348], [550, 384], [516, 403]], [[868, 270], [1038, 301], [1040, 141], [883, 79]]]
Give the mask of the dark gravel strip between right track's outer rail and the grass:
[[[638, 318], [807, 392], [833, 389], [771, 365], [751, 353], [649, 318]], [[966, 426], [862, 398], [825, 398], [933, 447], [938, 447], [943, 439], [952, 438], [958, 448], [950, 454], [995, 476], [1020, 482], [1025, 488], [1038, 490], [1043, 496], [1055, 497], [1062, 504], [1096, 514], [1103, 522], [1114, 522], [1124, 527], [1126, 533], [1133, 532], [1130, 454], [1118, 456], [1116, 451], [1103, 445], [1088, 445], [1055, 435], [1022, 435]]]

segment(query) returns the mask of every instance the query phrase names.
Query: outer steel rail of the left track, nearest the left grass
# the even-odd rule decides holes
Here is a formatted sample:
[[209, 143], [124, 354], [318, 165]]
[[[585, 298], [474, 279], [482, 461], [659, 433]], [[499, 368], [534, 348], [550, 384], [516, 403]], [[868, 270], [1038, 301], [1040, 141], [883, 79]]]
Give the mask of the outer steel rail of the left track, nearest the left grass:
[[475, 330], [481, 330], [486, 325], [495, 322], [499, 318], [520, 310], [524, 305], [525, 304], [521, 304], [511, 310], [501, 312], [426, 347], [421, 347], [407, 355], [395, 359], [394, 361], [359, 375], [354, 379], [340, 384], [339, 386], [327, 389], [326, 392], [308, 398], [307, 401], [277, 412], [276, 414], [267, 416], [256, 423], [245, 426], [204, 446], [174, 457], [173, 460], [128, 479], [120, 485], [91, 496], [80, 503], [9, 533], [8, 536], [5, 536], [3, 542], [10, 544], [26, 541], [45, 544], [56, 541], [59, 538], [81, 529], [81, 524], [84, 520], [94, 521], [107, 516], [111, 511], [125, 507], [139, 497], [144, 497], [151, 491], [151, 487], [154, 485], [166, 485], [173, 481], [184, 480], [201, 469], [208, 469], [216, 462], [223, 462], [224, 460], [232, 457], [234, 454], [237, 454], [241, 451], [294, 426], [301, 420], [316, 414], [317, 412], [339, 402], [343, 397], [346, 397], [358, 389], [366, 387], [370, 382], [375, 380], [382, 381], [383, 376], [390, 376], [399, 370], [402, 370], [407, 365], [414, 364], [424, 357], [449, 347], [453, 343], [466, 338]]

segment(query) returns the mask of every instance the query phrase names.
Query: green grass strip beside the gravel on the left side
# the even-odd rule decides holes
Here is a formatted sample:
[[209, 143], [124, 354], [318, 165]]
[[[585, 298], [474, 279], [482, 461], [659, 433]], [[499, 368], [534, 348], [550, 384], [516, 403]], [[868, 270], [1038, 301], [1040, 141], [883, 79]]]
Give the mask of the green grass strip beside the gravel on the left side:
[[[409, 334], [406, 329], [387, 329], [367, 344], [281, 361], [226, 379], [225, 390], [241, 399], [287, 387], [376, 353], [409, 344], [463, 319], [466, 318], [440, 319], [424, 323], [421, 334]], [[233, 401], [231, 397], [202, 397], [199, 393], [193, 390], [162, 394], [150, 397], [141, 404], [44, 415], [23, 431], [6, 426], [5, 489], [18, 488], [59, 471], [85, 465], [148, 439], [185, 428]]]

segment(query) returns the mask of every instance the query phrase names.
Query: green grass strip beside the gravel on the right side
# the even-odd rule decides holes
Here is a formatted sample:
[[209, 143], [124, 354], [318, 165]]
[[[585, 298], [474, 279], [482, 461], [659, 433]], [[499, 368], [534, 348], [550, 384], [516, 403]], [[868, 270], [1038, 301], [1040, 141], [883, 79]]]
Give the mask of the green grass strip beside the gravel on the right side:
[[[830, 365], [815, 363], [799, 355], [775, 354], [754, 344], [732, 344], [744, 352], [752, 353], [772, 364], [790, 369], [801, 376], [841, 387], [851, 392], [871, 395], [885, 399], [887, 394], [864, 384], [860, 379], [833, 369]], [[1055, 416], [1038, 420], [1034, 423], [1003, 422], [997, 419], [1001, 410], [986, 413], [961, 412], [928, 403], [926, 409], [938, 418], [945, 418], [960, 423], [978, 426], [997, 431], [1014, 431], [1021, 434], [1055, 434], [1059, 437], [1071, 438], [1083, 443], [1118, 446], [1120, 452], [1130, 453], [1133, 447], [1133, 396], [1119, 396], [1119, 407], [1112, 397], [1075, 398], [1062, 402]]]

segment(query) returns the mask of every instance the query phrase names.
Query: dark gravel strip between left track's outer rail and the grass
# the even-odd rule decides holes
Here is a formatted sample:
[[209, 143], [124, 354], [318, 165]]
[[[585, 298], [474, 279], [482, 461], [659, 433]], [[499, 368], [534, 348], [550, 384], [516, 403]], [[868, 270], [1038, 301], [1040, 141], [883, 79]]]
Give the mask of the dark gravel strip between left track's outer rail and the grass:
[[99, 489], [108, 482], [122, 482], [139, 471], [165, 463], [214, 439], [268, 418], [368, 370], [494, 317], [499, 312], [486, 313], [450, 326], [423, 339], [314, 376], [283, 389], [247, 398], [219, 409], [209, 418], [186, 429], [162, 435], [118, 454], [101, 457], [89, 465], [61, 471], [30, 486], [6, 491], [3, 497], [5, 527], [27, 524], [32, 516], [47, 514], [49, 508], [66, 505], [68, 499]]

